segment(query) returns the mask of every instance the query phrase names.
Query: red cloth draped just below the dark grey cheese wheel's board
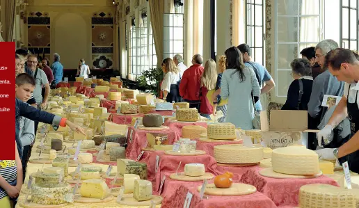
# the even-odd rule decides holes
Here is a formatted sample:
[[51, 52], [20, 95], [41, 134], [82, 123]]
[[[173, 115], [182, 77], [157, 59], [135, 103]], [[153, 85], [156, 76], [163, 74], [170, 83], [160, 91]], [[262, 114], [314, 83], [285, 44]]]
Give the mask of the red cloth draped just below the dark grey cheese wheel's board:
[[128, 159], [137, 159], [138, 155], [142, 151], [142, 148], [147, 146], [147, 133], [167, 136], [168, 145], [172, 145], [175, 141], [179, 140], [178, 134], [176, 134], [173, 129], [140, 130], [135, 129], [134, 127], [129, 127], [126, 148], [126, 157]]

